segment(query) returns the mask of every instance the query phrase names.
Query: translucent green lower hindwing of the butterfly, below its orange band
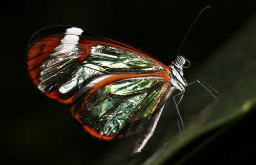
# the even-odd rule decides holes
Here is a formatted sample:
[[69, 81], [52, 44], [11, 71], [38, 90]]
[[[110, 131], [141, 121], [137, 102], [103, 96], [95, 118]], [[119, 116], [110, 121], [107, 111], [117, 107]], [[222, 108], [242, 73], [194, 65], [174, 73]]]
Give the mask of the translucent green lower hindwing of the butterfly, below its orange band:
[[[166, 100], [167, 88], [167, 82], [160, 77], [117, 81], [93, 93], [82, 102], [82, 109], [81, 102], [76, 102], [75, 116], [91, 129], [86, 129], [89, 133], [96, 136], [97, 132], [96, 137], [101, 139], [116, 137], [122, 131], [137, 132]], [[133, 123], [133, 119], [138, 122]]]

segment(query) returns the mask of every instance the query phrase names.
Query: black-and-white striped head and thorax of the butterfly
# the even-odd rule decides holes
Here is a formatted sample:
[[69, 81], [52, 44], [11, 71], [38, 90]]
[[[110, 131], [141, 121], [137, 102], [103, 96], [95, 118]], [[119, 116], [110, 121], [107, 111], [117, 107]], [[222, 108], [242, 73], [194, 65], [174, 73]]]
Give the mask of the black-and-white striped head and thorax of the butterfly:
[[[186, 65], [188, 63], [188, 65]], [[183, 56], [177, 56], [175, 62], [170, 64], [170, 85], [174, 88], [185, 91], [185, 87], [187, 86], [187, 82], [183, 77], [183, 68], [188, 68], [190, 66], [190, 62], [185, 59]]]

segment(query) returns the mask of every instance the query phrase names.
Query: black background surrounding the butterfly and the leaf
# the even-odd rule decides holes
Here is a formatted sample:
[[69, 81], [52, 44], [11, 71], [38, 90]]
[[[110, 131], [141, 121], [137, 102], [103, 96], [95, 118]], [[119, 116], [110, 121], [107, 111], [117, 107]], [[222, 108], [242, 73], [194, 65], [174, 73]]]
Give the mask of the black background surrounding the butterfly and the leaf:
[[[25, 70], [27, 44], [33, 33], [50, 25], [77, 25], [136, 45], [168, 65], [175, 60], [189, 25], [207, 5], [212, 8], [200, 16], [181, 50], [191, 62], [191, 67], [185, 70], [188, 80], [193, 78], [189, 77], [189, 73], [200, 69], [204, 61], [255, 14], [255, 2], [2, 2], [0, 136], [3, 160], [10, 164], [91, 164], [98, 162], [104, 151], [115, 143], [97, 141], [83, 133], [72, 121], [67, 105], [46, 98], [33, 88]], [[255, 113], [252, 116], [255, 117]], [[255, 137], [246, 135], [246, 125], [253, 124], [253, 117], [242, 120], [241, 124], [206, 146], [187, 163], [224, 164], [248, 159], [255, 154], [256, 147]], [[236, 139], [244, 143], [238, 144]], [[232, 148], [234, 145], [237, 147]], [[182, 157], [182, 152], [174, 160]], [[224, 154], [227, 156], [224, 157]], [[110, 159], [115, 159], [115, 155], [111, 155]]]

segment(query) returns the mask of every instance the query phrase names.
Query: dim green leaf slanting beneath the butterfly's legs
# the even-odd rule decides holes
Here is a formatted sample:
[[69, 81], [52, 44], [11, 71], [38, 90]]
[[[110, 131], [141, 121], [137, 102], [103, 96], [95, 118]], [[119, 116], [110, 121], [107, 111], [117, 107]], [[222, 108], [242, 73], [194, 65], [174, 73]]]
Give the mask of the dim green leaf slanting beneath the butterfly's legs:
[[[221, 95], [214, 99], [199, 85], [187, 87], [179, 106], [184, 129], [178, 131], [175, 107], [173, 102], [169, 103], [142, 153], [132, 157], [127, 156], [129, 153], [123, 156], [127, 152], [125, 150], [132, 150], [127, 146], [132, 146], [134, 139], [125, 140], [124, 146], [121, 146], [124, 144], [122, 140], [113, 144], [112, 150], [123, 147], [122, 153], [116, 153], [118, 161], [122, 161], [122, 164], [163, 164], [199, 136], [232, 123], [251, 111], [256, 104], [255, 38], [256, 16], [247, 21], [244, 28], [205, 61], [198, 71], [187, 78], [184, 70], [187, 80], [200, 77], [221, 92]], [[222, 127], [203, 143], [208, 143], [227, 128]], [[113, 154], [113, 151], [108, 151], [110, 153], [106, 154], [105, 159], [102, 158], [102, 162], [109, 161], [106, 159]], [[189, 157], [189, 154], [184, 155], [183, 159]]]

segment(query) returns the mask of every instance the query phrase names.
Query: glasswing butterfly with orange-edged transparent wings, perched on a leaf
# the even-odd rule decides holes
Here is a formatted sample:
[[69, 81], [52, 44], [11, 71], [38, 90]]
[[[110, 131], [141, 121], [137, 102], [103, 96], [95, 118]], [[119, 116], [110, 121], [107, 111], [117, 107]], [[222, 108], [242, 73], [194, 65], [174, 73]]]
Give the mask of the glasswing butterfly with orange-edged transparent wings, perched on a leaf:
[[[186, 82], [183, 68], [190, 63], [182, 56], [166, 66], [130, 44], [75, 26], [36, 32], [26, 60], [35, 87], [70, 104], [74, 120], [92, 136], [110, 141], [141, 132], [133, 153], [140, 152], [152, 136], [174, 90], [181, 91], [182, 98], [185, 87], [199, 82], [210, 92], [200, 79]], [[173, 98], [183, 126], [178, 95]]]

